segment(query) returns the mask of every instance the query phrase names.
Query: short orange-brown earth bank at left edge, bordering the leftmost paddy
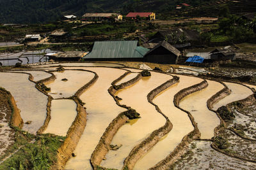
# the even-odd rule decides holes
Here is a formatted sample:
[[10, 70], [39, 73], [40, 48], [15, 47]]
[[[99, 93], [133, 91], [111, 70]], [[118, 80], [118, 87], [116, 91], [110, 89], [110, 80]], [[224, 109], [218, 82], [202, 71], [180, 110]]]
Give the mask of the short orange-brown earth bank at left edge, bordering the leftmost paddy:
[[13, 98], [12, 94], [6, 89], [0, 87], [0, 91], [5, 92], [7, 94], [6, 98], [8, 99], [8, 104], [10, 104], [10, 108], [12, 109], [12, 115], [10, 118], [10, 127], [15, 126], [21, 129], [24, 122], [20, 117], [20, 111], [19, 111], [19, 108], [17, 108], [15, 99]]

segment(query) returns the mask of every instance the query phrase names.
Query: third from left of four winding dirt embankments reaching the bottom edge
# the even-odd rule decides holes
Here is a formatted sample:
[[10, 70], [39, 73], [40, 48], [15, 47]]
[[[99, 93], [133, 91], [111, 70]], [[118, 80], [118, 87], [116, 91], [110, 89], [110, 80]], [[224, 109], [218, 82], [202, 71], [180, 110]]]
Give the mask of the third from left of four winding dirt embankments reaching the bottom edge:
[[172, 130], [172, 122], [170, 122], [169, 118], [164, 115], [164, 113], [160, 110], [160, 108], [153, 103], [154, 97], [157, 96], [160, 92], [163, 92], [164, 90], [168, 89], [175, 83], [179, 83], [179, 77], [174, 76], [172, 80], [168, 80], [163, 85], [160, 85], [156, 89], [152, 90], [148, 96], [148, 102], [156, 107], [157, 112], [159, 112], [161, 115], [163, 115], [164, 118], [166, 118], [166, 124], [164, 124], [163, 127], [160, 127], [156, 131], [152, 132], [150, 136], [143, 140], [139, 145], [135, 146], [132, 151], [129, 153], [128, 157], [124, 161], [124, 167], [122, 169], [133, 169], [136, 162], [145, 155], [150, 148], [154, 147], [163, 136], [168, 134]]

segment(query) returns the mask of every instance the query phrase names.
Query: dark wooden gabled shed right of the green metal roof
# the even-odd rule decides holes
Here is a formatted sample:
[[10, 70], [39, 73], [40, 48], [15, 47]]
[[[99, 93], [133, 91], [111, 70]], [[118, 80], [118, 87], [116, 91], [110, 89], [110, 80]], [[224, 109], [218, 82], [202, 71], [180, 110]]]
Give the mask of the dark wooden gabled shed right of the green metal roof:
[[176, 64], [180, 51], [166, 41], [162, 41], [157, 46], [146, 53], [144, 60], [162, 64]]

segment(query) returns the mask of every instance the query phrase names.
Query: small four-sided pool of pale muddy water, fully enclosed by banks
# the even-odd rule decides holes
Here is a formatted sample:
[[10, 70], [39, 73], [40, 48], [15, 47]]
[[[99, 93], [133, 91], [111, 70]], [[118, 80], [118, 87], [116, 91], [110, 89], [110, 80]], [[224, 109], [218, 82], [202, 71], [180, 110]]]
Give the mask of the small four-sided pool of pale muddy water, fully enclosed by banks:
[[44, 133], [66, 136], [76, 118], [77, 105], [73, 100], [67, 99], [53, 100], [51, 104], [51, 120]]

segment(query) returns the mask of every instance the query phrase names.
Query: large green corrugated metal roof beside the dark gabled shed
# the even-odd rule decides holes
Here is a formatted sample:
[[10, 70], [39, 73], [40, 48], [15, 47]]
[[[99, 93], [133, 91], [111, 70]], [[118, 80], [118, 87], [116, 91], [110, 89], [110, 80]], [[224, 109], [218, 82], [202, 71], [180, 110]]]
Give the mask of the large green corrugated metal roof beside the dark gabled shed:
[[137, 45], [138, 41], [96, 41], [84, 59], [143, 58], [149, 50]]

